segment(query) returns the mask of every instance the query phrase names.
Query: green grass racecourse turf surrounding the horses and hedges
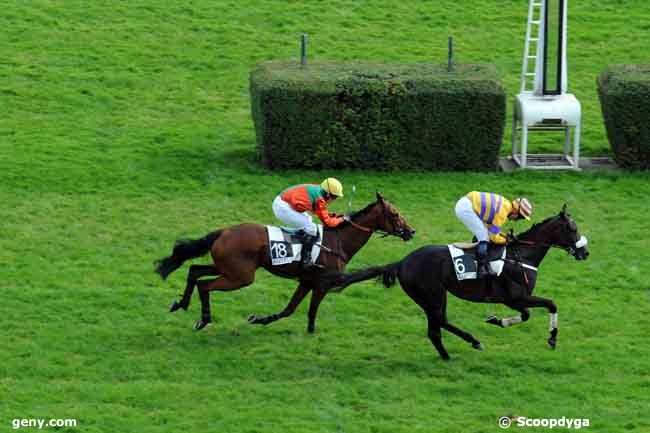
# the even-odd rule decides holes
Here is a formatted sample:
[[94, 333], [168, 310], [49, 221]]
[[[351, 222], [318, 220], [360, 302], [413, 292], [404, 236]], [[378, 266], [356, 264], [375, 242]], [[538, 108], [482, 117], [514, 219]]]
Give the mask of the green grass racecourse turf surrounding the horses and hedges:
[[[58, 431], [490, 433], [504, 415], [650, 431], [650, 175], [270, 172], [256, 162], [248, 73], [296, 57], [300, 32], [314, 57], [403, 62], [446, 61], [451, 33], [458, 61], [496, 64], [510, 101], [526, 11], [523, 0], [5, 4], [0, 431], [74, 418]], [[607, 64], [648, 62], [650, 3], [571, 2], [569, 25], [584, 150], [607, 154], [595, 79]], [[453, 206], [469, 190], [526, 194], [537, 220], [568, 203], [591, 257], [553, 251], [540, 270], [536, 293], [559, 308], [558, 349], [546, 346], [545, 311], [497, 329], [482, 321], [505, 307], [451, 299], [450, 320], [487, 350], [445, 334], [445, 363], [417, 306], [372, 283], [328, 296], [314, 335], [307, 302], [252, 327], [248, 314], [279, 311], [295, 287], [264, 272], [213, 295], [216, 322], [200, 333], [198, 300], [167, 313], [187, 268], [162, 282], [152, 261], [174, 239], [274, 223], [278, 191], [326, 174], [357, 186], [357, 209], [381, 190], [417, 229], [410, 243], [373, 238], [353, 269], [466, 239]]]

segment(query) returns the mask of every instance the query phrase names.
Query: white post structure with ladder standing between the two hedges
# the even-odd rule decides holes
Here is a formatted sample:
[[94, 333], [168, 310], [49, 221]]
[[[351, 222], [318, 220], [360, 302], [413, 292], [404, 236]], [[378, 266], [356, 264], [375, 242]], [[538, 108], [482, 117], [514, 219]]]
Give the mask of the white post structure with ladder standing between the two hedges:
[[[577, 170], [582, 113], [580, 102], [567, 93], [568, 0], [529, 1], [521, 88], [513, 110], [512, 158], [521, 168]], [[532, 131], [564, 132], [563, 153], [528, 154]]]

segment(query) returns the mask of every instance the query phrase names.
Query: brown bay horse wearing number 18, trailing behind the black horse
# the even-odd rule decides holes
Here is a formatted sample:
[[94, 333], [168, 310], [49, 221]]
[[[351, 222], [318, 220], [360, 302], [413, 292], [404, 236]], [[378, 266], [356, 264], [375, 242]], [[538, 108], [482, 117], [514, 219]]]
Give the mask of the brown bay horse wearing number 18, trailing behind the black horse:
[[[271, 265], [266, 226], [240, 224], [213, 231], [201, 239], [177, 240], [172, 255], [155, 262], [155, 271], [166, 279], [186, 260], [200, 257], [208, 251], [211, 253], [212, 264], [190, 266], [183, 296], [170, 307], [170, 312], [181, 308], [187, 310], [196, 286], [201, 300], [201, 318], [194, 325], [197, 331], [212, 321], [211, 291], [227, 292], [246, 287], [253, 283], [258, 268], [264, 268], [283, 278], [297, 278], [298, 287], [284, 310], [263, 317], [251, 315], [248, 321], [251, 324], [268, 325], [288, 317], [311, 290], [307, 331], [312, 333], [316, 329], [318, 306], [326, 295], [326, 291], [320, 287], [321, 273], [325, 270], [343, 271], [352, 256], [368, 242], [374, 232], [397, 236], [404, 241], [410, 240], [415, 234], [395, 206], [377, 193], [375, 202], [351, 215], [347, 221], [335, 228], [324, 228], [316, 267], [303, 270], [299, 262]], [[199, 280], [207, 276], [218, 278]]]

